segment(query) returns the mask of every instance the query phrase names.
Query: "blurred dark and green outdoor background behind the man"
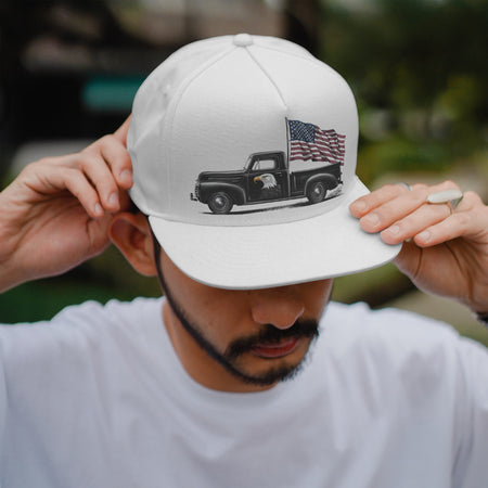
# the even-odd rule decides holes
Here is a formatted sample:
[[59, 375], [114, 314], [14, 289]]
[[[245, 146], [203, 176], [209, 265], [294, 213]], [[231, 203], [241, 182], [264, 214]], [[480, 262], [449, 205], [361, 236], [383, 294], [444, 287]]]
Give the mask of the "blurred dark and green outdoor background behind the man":
[[[486, 0], [2, 0], [0, 182], [112, 132], [145, 76], [179, 47], [241, 31], [293, 40], [349, 81], [368, 184], [452, 178], [487, 198]], [[419, 309], [487, 341], [467, 312], [411, 290], [391, 266], [338, 280], [335, 297]], [[2, 295], [0, 321], [139, 293], [157, 286], [107, 253]]]

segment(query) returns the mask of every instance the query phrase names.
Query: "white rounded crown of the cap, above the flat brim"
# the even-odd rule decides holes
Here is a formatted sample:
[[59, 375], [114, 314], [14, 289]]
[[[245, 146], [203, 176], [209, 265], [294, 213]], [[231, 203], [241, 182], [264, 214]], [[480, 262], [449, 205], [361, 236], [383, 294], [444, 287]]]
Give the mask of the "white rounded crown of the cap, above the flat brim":
[[[342, 195], [297, 205], [291, 192], [294, 167], [307, 170], [324, 164], [320, 155], [319, 160], [304, 160], [300, 147], [309, 151], [307, 141], [329, 133], [332, 146], [334, 141], [336, 150], [337, 141], [341, 145]], [[181, 222], [248, 226], [299, 220], [341, 204], [352, 184], [357, 141], [357, 110], [348, 85], [305, 49], [248, 35], [197, 41], [159, 65], [134, 99], [128, 133], [134, 172], [131, 197], [145, 214]], [[296, 160], [291, 154], [294, 142]], [[258, 153], [283, 154], [286, 192], [253, 202], [253, 211], [243, 205], [228, 215], [213, 214], [196, 198], [202, 174], [213, 171], [226, 181], [241, 178], [249, 157]], [[261, 171], [257, 180], [253, 175], [237, 184], [243, 197], [254, 191], [249, 184], [259, 183], [264, 191], [278, 184], [269, 172]]]

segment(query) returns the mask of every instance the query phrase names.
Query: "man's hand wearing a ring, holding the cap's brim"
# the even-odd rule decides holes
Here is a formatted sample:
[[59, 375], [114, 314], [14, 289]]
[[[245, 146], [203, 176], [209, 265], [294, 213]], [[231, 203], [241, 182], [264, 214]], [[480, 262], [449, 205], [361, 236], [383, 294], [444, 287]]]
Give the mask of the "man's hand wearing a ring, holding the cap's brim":
[[350, 205], [365, 232], [387, 244], [403, 242], [395, 262], [425, 292], [488, 311], [488, 207], [474, 192], [459, 206], [429, 204], [429, 194], [457, 189], [452, 182], [427, 187], [386, 185]]

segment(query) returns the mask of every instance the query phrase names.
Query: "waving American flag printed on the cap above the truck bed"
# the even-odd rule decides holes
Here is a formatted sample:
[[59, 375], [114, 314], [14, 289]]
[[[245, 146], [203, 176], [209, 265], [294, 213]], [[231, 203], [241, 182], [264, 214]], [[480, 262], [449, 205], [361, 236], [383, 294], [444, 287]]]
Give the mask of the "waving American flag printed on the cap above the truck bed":
[[288, 127], [290, 160], [344, 164], [346, 136], [300, 120], [288, 120]]

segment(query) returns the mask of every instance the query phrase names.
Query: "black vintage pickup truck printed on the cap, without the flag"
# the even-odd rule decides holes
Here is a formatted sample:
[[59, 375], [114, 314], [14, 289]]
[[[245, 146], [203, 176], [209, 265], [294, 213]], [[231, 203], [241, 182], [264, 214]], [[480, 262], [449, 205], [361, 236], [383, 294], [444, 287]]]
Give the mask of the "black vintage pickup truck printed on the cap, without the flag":
[[254, 153], [243, 170], [201, 172], [190, 197], [208, 205], [214, 214], [229, 214], [234, 205], [292, 198], [306, 197], [316, 204], [341, 193], [341, 163], [292, 171], [282, 151]]

